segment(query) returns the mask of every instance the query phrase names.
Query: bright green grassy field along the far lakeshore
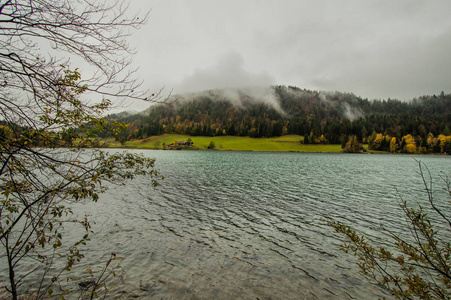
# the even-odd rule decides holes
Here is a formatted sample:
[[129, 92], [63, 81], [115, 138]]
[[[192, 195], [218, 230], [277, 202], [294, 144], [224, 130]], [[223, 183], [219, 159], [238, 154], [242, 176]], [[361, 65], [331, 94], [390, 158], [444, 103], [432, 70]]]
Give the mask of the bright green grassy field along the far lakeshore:
[[[340, 145], [304, 145], [304, 138], [299, 135], [285, 135], [274, 138], [250, 138], [239, 136], [188, 136], [181, 134], [164, 134], [153, 136], [144, 140], [132, 140], [125, 143], [128, 148], [162, 149], [163, 143], [169, 145], [177, 141], [186, 141], [188, 138], [199, 149], [206, 149], [211, 141], [217, 150], [233, 151], [291, 151], [291, 152], [341, 152]], [[119, 142], [109, 139], [106, 141], [110, 147], [122, 147]]]

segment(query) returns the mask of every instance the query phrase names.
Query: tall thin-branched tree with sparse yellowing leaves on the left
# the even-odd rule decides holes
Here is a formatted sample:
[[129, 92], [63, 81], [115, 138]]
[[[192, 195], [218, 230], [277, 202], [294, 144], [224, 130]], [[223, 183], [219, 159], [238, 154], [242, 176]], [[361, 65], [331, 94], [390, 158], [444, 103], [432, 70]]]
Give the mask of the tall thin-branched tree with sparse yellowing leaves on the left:
[[[103, 118], [113, 103], [161, 101], [139, 88], [130, 69], [126, 38], [148, 15], [126, 10], [120, 0], [0, 2], [0, 268], [13, 299], [29, 290], [55, 295], [52, 287], [82, 258], [90, 223], [72, 214], [74, 202], [96, 201], [105, 182], [158, 177], [151, 158], [81, 148], [105, 127], [118, 133], [120, 125]], [[79, 148], [58, 148], [61, 141]], [[85, 230], [79, 241], [66, 244], [66, 222]], [[24, 286], [30, 276], [39, 283], [32, 288]]]

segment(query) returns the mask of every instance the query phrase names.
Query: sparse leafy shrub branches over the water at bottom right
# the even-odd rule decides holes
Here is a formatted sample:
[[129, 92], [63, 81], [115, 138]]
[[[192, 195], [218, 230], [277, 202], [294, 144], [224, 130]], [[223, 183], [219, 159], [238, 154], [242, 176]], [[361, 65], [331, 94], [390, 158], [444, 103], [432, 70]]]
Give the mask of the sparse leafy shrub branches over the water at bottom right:
[[[413, 205], [399, 195], [405, 223], [402, 232], [386, 229], [389, 246], [374, 246], [346, 224], [329, 220], [328, 224], [346, 238], [343, 251], [357, 256], [360, 271], [386, 287], [397, 299], [451, 299], [451, 218], [450, 199], [435, 198], [430, 172], [418, 162], [427, 207]], [[451, 182], [441, 176], [447, 197], [451, 198]]]

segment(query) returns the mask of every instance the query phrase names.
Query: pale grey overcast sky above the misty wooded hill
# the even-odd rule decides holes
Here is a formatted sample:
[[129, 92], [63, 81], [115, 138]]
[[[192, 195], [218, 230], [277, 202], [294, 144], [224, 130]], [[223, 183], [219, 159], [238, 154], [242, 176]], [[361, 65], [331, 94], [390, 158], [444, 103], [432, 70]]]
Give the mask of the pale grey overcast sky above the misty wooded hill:
[[258, 85], [412, 99], [451, 92], [451, 1], [132, 0], [144, 85]]

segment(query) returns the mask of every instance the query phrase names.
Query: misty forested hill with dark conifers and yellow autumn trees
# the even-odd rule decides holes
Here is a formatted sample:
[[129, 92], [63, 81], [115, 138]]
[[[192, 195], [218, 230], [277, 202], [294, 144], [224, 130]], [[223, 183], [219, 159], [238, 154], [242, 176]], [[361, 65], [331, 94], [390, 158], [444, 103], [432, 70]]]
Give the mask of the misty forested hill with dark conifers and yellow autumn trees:
[[305, 143], [342, 144], [343, 148], [353, 138], [357, 144], [369, 143], [373, 150], [390, 151], [392, 143], [392, 152], [409, 152], [406, 145], [414, 142], [416, 152], [451, 152], [447, 149], [451, 146], [451, 94], [408, 102], [292, 86], [267, 89], [263, 99], [261, 91], [254, 94], [242, 89], [232, 94], [211, 90], [179, 95], [172, 104], [109, 118], [129, 124], [118, 137], [122, 141], [163, 133], [254, 138], [298, 134]]

